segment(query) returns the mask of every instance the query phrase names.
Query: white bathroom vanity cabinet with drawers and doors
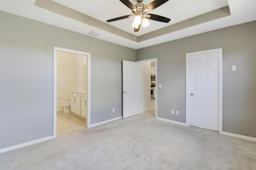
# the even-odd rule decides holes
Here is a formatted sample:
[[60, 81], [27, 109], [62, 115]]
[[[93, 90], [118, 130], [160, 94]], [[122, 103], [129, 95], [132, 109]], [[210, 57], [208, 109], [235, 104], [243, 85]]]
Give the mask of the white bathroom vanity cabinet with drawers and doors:
[[70, 92], [70, 110], [80, 117], [86, 119], [87, 115], [87, 95], [83, 91]]

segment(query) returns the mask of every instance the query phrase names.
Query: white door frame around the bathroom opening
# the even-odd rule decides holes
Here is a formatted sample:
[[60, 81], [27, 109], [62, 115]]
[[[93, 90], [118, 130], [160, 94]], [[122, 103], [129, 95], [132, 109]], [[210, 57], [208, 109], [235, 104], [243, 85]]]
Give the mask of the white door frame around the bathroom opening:
[[91, 117], [91, 53], [82, 51], [75, 51], [71, 49], [64, 49], [60, 47], [53, 47], [53, 138], [56, 138], [56, 112], [57, 112], [57, 51], [66, 53], [74, 53], [79, 55], [86, 55], [87, 59], [87, 116], [86, 116], [86, 127], [90, 127]]

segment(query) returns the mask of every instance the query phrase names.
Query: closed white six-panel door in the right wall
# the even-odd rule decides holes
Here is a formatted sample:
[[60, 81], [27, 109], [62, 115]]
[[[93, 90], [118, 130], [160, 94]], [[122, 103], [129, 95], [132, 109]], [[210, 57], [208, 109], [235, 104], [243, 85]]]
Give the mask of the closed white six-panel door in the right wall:
[[218, 131], [219, 51], [187, 54], [188, 111], [190, 125]]

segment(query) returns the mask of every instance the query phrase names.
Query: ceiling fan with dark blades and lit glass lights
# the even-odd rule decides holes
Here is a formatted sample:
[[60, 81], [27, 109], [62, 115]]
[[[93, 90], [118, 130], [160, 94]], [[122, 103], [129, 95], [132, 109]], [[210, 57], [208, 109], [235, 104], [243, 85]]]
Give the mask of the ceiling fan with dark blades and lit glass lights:
[[[171, 19], [163, 17], [163, 16], [158, 16], [155, 14], [147, 14], [147, 12], [154, 10], [158, 6], [164, 4], [168, 0], [154, 0], [148, 5], [142, 4], [143, 0], [136, 0], [138, 4], [132, 4], [129, 0], [120, 0], [125, 6], [130, 8], [132, 10], [133, 15], [127, 15], [127, 16], [121, 16], [118, 18], [113, 18], [111, 20], [107, 20], [107, 22], [112, 22], [112, 21], [117, 21], [117, 20], [122, 20], [125, 18], [130, 18], [134, 17], [134, 22], [132, 23], [132, 27], [134, 27], [134, 32], [137, 32], [140, 30], [140, 25], [142, 23], [143, 27], [146, 27], [149, 25], [150, 20], [155, 20], [155, 21], [160, 21], [160, 22], [166, 22], [168, 23]], [[146, 19], [147, 18], [147, 19]]]

